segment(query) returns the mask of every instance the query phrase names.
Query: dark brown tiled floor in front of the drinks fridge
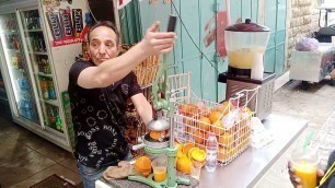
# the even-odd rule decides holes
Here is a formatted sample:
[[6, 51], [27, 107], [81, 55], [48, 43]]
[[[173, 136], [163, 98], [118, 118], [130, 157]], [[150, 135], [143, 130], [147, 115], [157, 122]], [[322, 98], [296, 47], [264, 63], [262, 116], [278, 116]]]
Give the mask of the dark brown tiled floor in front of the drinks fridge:
[[53, 174], [81, 187], [71, 153], [0, 116], [0, 187], [26, 188]]

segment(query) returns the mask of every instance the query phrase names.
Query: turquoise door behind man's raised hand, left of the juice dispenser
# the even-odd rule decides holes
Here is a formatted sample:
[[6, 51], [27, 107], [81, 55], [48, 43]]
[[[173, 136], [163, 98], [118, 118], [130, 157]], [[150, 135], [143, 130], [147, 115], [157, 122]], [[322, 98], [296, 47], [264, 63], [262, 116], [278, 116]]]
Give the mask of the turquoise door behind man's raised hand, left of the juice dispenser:
[[[169, 14], [178, 16], [178, 35], [174, 52], [169, 56], [169, 73], [192, 72], [190, 89], [200, 98], [216, 102], [218, 71], [213, 62], [216, 42], [210, 36], [216, 28], [215, 0], [174, 0], [173, 4], [159, 1], [140, 2], [142, 32], [155, 21], [166, 30]], [[215, 36], [213, 36], [215, 37]], [[201, 52], [200, 52], [201, 51]]]

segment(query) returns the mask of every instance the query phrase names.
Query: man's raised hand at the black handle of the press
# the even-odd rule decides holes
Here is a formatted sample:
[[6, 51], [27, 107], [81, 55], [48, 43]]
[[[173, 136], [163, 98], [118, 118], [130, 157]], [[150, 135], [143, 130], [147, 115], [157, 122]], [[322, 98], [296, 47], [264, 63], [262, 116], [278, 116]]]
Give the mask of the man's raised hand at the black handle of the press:
[[154, 23], [147, 30], [146, 36], [141, 40], [142, 50], [150, 55], [166, 54], [173, 49], [176, 35], [173, 32], [158, 32], [160, 22]]

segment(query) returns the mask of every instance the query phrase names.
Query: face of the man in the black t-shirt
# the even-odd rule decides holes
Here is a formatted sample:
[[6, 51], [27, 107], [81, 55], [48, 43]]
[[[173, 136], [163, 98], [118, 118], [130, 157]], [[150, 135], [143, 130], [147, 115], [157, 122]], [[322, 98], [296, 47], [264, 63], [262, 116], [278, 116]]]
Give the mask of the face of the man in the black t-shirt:
[[90, 33], [89, 54], [95, 66], [115, 58], [118, 54], [115, 32], [106, 26], [94, 28]]

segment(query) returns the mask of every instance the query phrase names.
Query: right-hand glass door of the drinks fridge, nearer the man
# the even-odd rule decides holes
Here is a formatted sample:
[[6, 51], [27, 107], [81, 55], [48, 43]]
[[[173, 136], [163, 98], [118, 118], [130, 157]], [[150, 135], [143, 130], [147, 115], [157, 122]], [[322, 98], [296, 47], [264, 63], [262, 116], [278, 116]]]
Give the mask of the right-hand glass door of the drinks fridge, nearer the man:
[[63, 128], [59, 117], [59, 101], [55, 89], [55, 74], [45, 40], [38, 10], [20, 11], [20, 21], [26, 44], [27, 57], [35, 79], [38, 101], [42, 107], [43, 125], [62, 136]]

